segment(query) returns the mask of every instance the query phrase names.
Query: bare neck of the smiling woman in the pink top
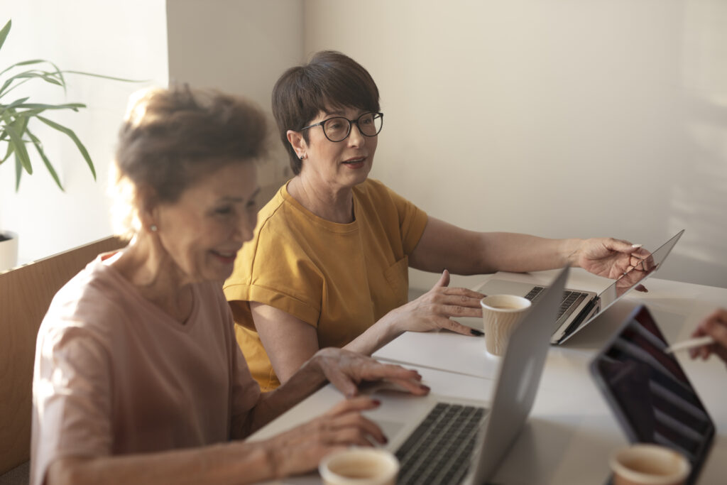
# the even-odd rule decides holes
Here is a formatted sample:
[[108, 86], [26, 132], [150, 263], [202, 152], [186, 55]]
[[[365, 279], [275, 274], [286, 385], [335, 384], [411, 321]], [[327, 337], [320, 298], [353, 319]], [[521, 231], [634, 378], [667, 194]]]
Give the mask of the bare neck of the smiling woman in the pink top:
[[142, 297], [184, 323], [192, 313], [193, 290], [169, 254], [153, 236], [134, 238], [118, 260], [111, 263], [139, 290]]

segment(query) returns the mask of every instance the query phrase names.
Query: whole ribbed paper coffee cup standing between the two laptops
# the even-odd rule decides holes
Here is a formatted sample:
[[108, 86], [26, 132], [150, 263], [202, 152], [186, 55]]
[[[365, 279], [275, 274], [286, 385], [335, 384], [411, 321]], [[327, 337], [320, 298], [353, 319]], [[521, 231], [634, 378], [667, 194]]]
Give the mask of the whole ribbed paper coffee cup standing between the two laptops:
[[514, 294], [491, 294], [480, 300], [480, 305], [485, 347], [492, 355], [502, 356], [510, 334], [530, 309], [531, 302]]

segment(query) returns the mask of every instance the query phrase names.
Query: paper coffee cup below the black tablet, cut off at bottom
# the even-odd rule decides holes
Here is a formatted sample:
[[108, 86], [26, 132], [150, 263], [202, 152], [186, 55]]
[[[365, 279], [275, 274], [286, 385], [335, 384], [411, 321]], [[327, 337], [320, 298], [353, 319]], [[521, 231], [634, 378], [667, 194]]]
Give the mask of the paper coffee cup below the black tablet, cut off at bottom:
[[691, 472], [683, 454], [656, 444], [618, 449], [608, 464], [614, 472], [614, 485], [683, 485]]

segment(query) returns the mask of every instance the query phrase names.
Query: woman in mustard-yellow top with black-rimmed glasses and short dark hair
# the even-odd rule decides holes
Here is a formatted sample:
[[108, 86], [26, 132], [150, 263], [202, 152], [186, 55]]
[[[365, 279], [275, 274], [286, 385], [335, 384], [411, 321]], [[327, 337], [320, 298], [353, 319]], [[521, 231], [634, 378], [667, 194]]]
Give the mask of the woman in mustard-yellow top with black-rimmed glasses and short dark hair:
[[[238, 342], [264, 389], [289, 380], [321, 347], [371, 354], [407, 330], [481, 334], [450, 319], [480, 316], [483, 295], [449, 288], [448, 271], [570, 263], [615, 278], [645, 252], [616, 239], [466, 231], [369, 179], [384, 119], [379, 90], [340, 52], [286, 71], [273, 114], [295, 176], [260, 211], [225, 282]], [[409, 267], [442, 273], [411, 302]]]

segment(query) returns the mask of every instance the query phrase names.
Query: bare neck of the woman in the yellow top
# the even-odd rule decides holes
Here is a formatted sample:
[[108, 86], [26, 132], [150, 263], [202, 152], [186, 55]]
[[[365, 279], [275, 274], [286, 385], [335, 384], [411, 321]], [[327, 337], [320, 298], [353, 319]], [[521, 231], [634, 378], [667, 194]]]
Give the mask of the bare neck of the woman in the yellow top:
[[353, 214], [353, 189], [322, 188], [322, 184], [311, 183], [297, 175], [288, 184], [288, 193], [305, 209], [332, 223], [348, 224], [355, 220]]

